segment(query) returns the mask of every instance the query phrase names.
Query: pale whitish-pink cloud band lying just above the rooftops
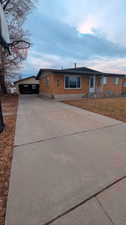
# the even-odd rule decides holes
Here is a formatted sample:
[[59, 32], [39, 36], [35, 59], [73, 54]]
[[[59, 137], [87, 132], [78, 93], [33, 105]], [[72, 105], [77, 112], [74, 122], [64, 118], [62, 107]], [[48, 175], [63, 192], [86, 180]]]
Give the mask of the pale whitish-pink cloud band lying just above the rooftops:
[[37, 74], [40, 68], [71, 68], [74, 63], [77, 66], [85, 66], [102, 72], [126, 74], [126, 58], [97, 57], [92, 60], [79, 60], [75, 58], [60, 57], [56, 55], [42, 54], [32, 50], [28, 60], [22, 67], [23, 74]]

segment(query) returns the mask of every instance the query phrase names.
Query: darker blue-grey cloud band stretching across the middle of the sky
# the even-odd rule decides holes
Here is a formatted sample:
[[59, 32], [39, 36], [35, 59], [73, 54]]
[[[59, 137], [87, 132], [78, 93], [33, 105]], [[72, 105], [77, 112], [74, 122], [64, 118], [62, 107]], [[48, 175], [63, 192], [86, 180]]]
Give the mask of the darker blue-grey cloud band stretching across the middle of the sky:
[[126, 56], [126, 48], [107, 40], [105, 36], [97, 35], [97, 32], [80, 34], [76, 27], [52, 17], [37, 14], [30, 26], [34, 27], [33, 49], [43, 54], [79, 60], [96, 56]]

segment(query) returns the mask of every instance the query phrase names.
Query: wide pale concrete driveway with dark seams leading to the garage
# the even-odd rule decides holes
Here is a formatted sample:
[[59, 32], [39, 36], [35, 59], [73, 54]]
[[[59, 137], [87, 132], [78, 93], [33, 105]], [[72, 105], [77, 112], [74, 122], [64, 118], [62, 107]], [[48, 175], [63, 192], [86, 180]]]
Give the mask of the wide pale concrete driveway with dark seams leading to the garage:
[[21, 96], [6, 225], [125, 225], [126, 124]]

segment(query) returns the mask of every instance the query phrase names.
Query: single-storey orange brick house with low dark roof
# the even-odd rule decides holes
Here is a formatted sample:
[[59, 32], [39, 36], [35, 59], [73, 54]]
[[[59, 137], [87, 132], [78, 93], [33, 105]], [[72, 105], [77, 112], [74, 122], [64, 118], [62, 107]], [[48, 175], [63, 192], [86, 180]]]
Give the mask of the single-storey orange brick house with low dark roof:
[[120, 96], [126, 94], [126, 75], [102, 73], [86, 67], [75, 69], [40, 69], [42, 96], [56, 99], [76, 99], [96, 96]]

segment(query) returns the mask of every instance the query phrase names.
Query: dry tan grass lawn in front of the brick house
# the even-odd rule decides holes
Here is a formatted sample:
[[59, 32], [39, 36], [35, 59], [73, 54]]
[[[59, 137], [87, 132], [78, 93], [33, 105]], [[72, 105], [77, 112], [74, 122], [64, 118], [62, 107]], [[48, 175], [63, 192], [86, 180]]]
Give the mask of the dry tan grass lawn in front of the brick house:
[[126, 122], [126, 97], [102, 99], [90, 98], [64, 101], [64, 103]]

